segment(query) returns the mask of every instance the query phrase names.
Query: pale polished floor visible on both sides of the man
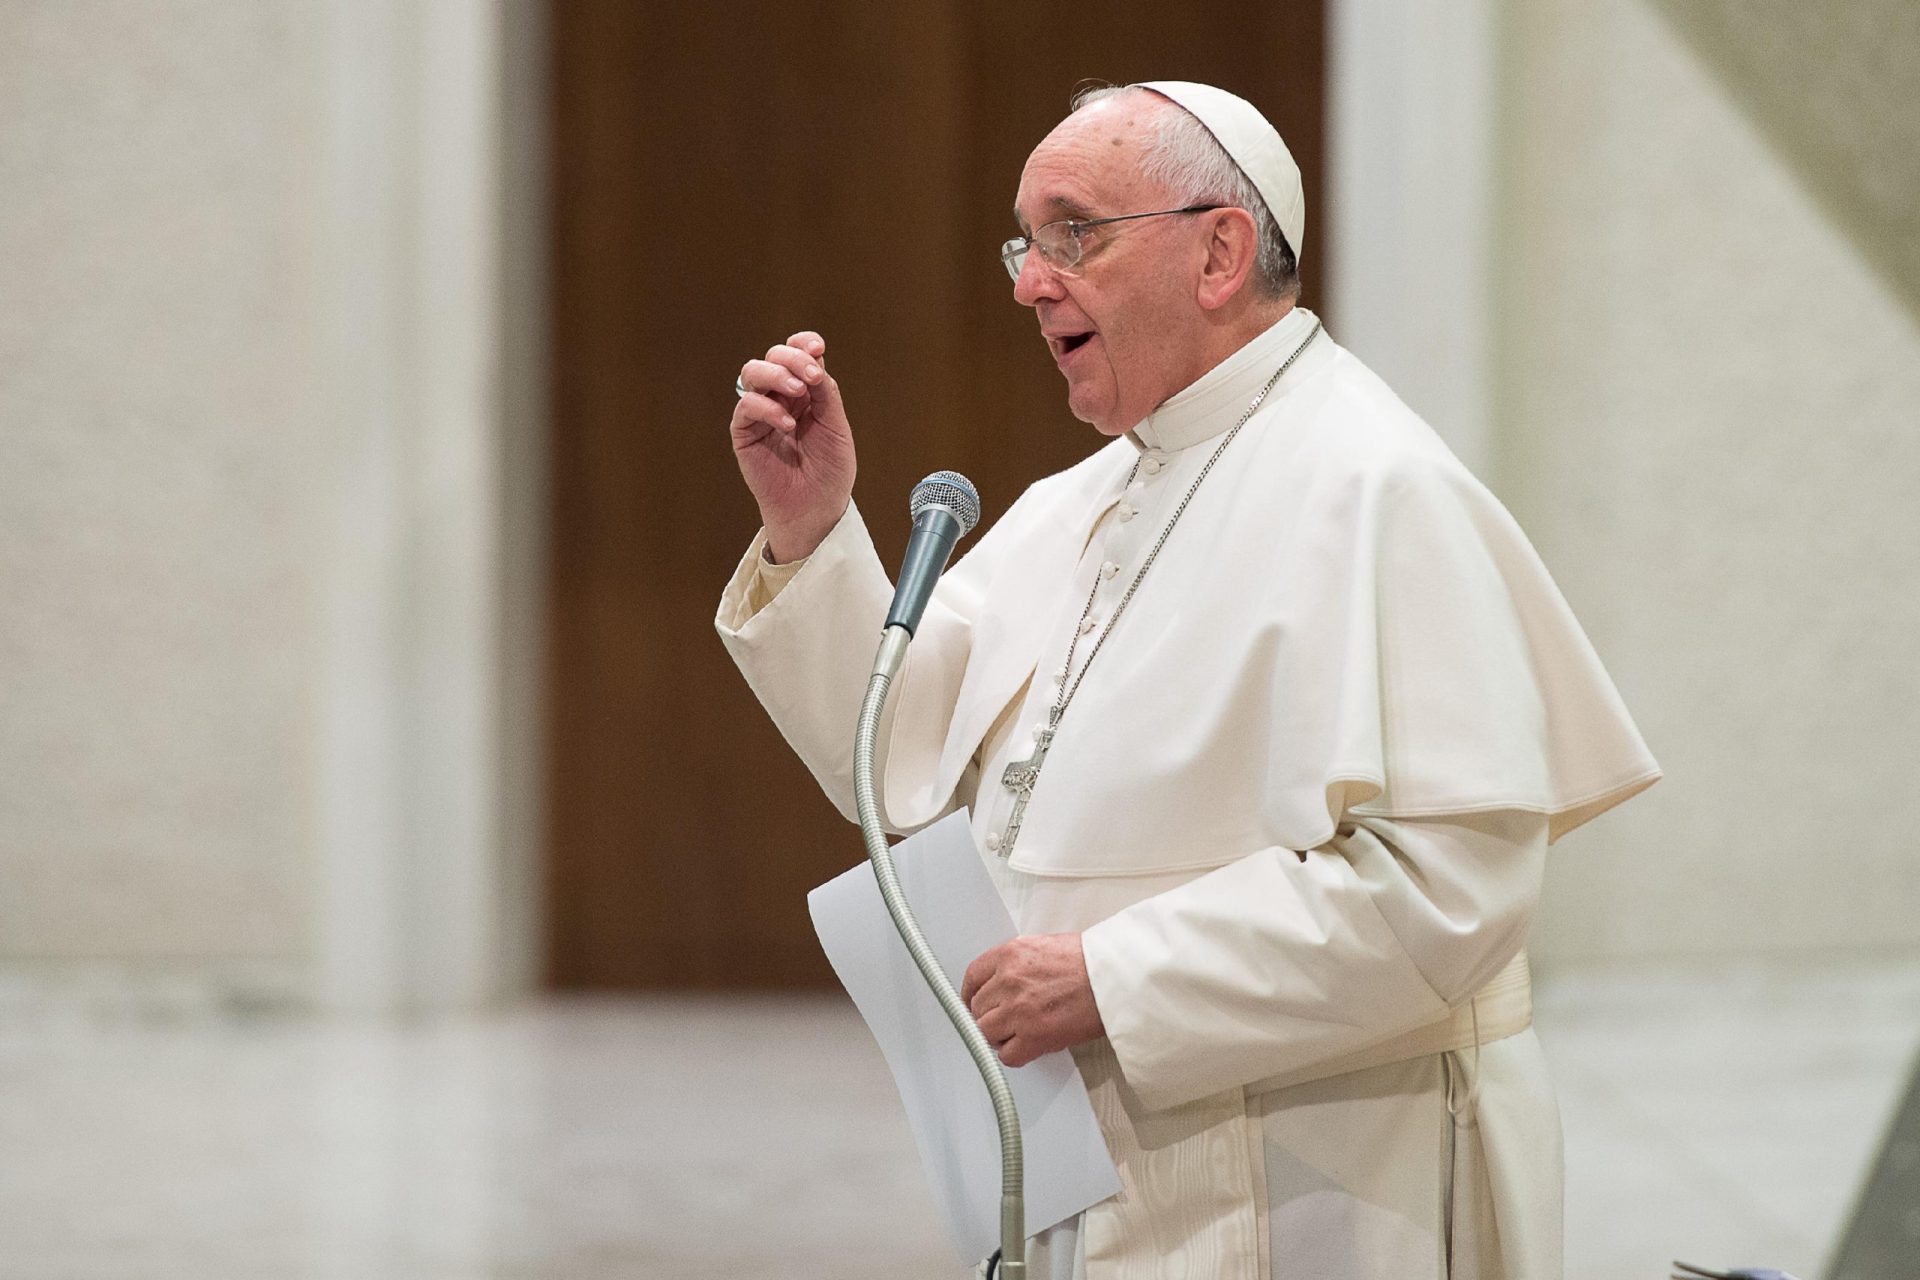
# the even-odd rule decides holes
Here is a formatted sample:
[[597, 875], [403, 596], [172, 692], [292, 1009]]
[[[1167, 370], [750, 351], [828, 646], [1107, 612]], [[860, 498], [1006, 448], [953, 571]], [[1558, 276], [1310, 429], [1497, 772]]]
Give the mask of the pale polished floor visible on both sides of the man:
[[[0, 1011], [0, 1280], [964, 1274], [839, 998]], [[1907, 1088], [1920, 963], [1563, 973], [1538, 1023], [1571, 1280], [1814, 1280]]]

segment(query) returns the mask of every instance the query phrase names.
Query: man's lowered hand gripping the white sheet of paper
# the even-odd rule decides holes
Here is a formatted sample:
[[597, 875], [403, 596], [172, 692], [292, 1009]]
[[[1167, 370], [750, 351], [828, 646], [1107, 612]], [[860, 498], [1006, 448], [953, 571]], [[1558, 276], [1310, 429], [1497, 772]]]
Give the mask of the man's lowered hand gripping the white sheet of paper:
[[1077, 933], [1025, 935], [983, 952], [960, 998], [1008, 1067], [1106, 1034]]

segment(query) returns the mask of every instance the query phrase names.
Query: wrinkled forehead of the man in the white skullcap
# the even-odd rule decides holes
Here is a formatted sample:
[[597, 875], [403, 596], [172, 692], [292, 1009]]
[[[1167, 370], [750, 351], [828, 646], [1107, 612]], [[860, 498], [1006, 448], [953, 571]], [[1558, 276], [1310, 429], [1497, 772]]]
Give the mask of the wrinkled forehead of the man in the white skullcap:
[[1110, 217], [1156, 184], [1140, 175], [1154, 138], [1158, 102], [1144, 94], [1108, 98], [1060, 121], [1020, 173], [1014, 221], [1033, 230], [1056, 219]]

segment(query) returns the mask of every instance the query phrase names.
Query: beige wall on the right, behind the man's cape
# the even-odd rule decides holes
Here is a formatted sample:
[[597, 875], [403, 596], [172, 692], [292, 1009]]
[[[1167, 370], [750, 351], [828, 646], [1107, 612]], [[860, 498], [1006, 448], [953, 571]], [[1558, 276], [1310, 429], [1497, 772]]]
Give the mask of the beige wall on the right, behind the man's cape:
[[1492, 480], [1668, 773], [1536, 950], [1916, 946], [1920, 25], [1676, 10], [1501, 19]]

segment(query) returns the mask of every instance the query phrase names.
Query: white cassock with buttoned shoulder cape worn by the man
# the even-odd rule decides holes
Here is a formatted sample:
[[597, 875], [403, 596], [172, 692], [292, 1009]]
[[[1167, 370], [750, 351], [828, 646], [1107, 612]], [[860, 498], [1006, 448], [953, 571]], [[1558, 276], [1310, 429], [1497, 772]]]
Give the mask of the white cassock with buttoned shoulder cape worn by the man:
[[[1108, 1034], [1073, 1055], [1125, 1190], [1033, 1242], [1037, 1280], [1561, 1274], [1521, 948], [1546, 846], [1659, 768], [1505, 509], [1327, 334], [1200, 486], [1002, 850], [1087, 595], [1075, 668], [1311, 326], [1029, 487], [941, 580], [881, 727], [887, 825], [972, 806], [1020, 931], [1083, 935]], [[852, 818], [893, 589], [856, 509], [795, 566], [762, 545], [716, 626]]]

